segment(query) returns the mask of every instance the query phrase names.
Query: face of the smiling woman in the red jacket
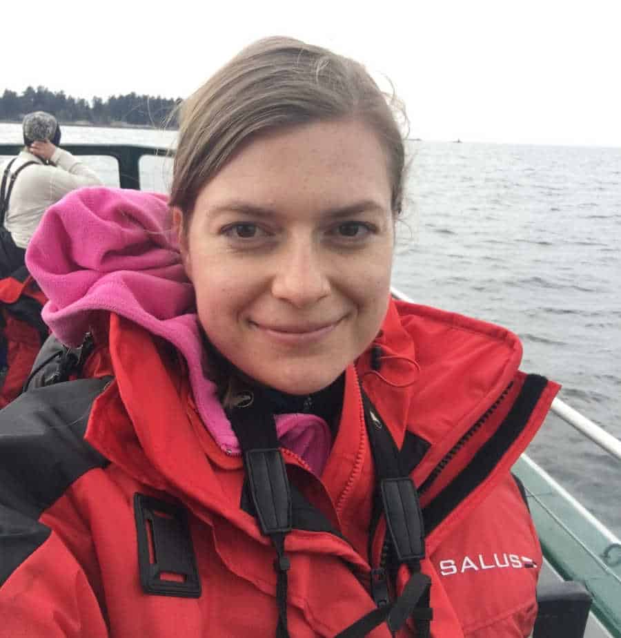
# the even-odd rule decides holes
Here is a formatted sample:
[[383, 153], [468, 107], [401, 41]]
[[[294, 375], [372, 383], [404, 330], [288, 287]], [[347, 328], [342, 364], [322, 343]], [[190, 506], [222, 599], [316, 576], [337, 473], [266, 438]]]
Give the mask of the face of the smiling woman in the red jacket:
[[362, 354], [386, 313], [386, 153], [357, 121], [261, 135], [201, 189], [180, 239], [213, 345], [260, 383], [316, 392]]

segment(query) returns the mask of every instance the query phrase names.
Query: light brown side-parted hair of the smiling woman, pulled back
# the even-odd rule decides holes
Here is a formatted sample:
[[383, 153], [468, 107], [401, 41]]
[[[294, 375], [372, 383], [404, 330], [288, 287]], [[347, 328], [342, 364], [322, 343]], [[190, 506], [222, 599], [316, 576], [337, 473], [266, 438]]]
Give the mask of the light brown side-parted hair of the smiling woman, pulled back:
[[386, 95], [362, 64], [285, 37], [244, 48], [181, 104], [170, 206], [181, 209], [187, 228], [201, 188], [251, 136], [346, 118], [366, 123], [384, 147], [397, 215], [405, 153]]

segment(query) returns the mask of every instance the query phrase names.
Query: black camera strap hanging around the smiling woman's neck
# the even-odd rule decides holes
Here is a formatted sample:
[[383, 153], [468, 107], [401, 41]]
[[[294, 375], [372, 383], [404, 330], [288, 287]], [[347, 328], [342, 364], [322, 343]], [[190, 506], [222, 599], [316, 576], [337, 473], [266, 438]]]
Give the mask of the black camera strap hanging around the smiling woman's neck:
[[[402, 471], [399, 451], [377, 411], [363, 394], [365, 421], [377, 476], [376, 500], [384, 512], [397, 561], [405, 563], [412, 576], [400, 597], [386, 601], [351, 626], [337, 638], [362, 638], [384, 621], [397, 632], [408, 617], [413, 617], [418, 635], [427, 638], [431, 621], [429, 590], [431, 579], [420, 572], [424, 557], [424, 530], [416, 489]], [[244, 455], [250, 495], [255, 516], [263, 534], [270, 537], [277, 553], [276, 599], [278, 604], [277, 638], [288, 638], [287, 572], [290, 568], [284, 553], [284, 539], [293, 528], [291, 488], [284, 458], [279, 450], [275, 420], [268, 401], [259, 392], [242, 392], [228, 409], [230, 423]]]

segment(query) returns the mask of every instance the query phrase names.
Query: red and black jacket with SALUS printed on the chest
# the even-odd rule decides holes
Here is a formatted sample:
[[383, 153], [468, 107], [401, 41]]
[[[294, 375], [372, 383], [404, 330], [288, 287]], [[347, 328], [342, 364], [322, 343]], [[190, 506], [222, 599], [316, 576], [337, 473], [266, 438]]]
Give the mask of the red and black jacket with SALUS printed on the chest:
[[[0, 563], [0, 637], [275, 635], [275, 554], [240, 507], [242, 459], [201, 423], [175, 351], [114, 315], [105, 341], [96, 336], [95, 378], [29, 391], [0, 413], [0, 555], [10, 556]], [[375, 607], [375, 483], [359, 383], [397, 445], [418, 450], [411, 476], [426, 525], [432, 636], [529, 635], [541, 554], [509, 470], [558, 386], [517, 371], [513, 334], [435, 309], [391, 305], [373, 345], [382, 366], [371, 369], [370, 348], [346, 371], [321, 480], [282, 450], [290, 482], [340, 534], [287, 536], [290, 635], [334, 636]], [[199, 597], [141, 588], [138, 537], [150, 536], [150, 562], [169, 548], [152, 546], [152, 527], [140, 531], [136, 493], [188, 512]], [[373, 562], [384, 530], [381, 521]], [[402, 567], [397, 590], [407, 579]]]

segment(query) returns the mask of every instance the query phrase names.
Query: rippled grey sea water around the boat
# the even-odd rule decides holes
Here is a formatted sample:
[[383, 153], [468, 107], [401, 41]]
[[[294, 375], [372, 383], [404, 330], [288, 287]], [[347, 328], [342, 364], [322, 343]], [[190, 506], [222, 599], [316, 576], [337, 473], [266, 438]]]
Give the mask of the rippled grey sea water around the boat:
[[[63, 127], [63, 142], [170, 146], [174, 133]], [[0, 124], [0, 141], [20, 127]], [[393, 284], [520, 336], [522, 369], [621, 438], [621, 148], [410, 142]], [[117, 185], [113, 160], [89, 160]], [[144, 158], [144, 187], [170, 179]], [[621, 534], [621, 467], [551, 416], [531, 457]]]

